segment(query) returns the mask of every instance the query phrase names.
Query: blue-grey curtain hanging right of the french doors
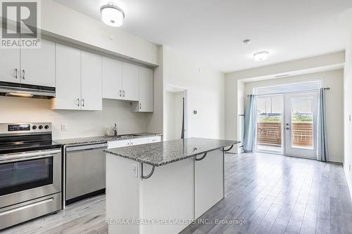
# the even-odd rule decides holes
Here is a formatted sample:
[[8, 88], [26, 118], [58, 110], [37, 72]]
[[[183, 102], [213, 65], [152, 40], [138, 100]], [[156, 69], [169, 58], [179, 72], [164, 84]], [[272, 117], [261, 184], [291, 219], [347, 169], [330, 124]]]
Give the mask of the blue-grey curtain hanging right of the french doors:
[[325, 89], [320, 89], [319, 100], [319, 121], [318, 121], [318, 157], [317, 160], [322, 162], [329, 161], [327, 149], [327, 117], [325, 103]]

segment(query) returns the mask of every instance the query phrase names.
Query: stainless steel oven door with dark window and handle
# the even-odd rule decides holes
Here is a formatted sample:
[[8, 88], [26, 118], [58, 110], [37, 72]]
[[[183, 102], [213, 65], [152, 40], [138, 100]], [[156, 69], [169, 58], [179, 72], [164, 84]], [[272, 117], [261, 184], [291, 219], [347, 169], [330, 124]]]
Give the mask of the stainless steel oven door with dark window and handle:
[[61, 192], [61, 150], [0, 155], [0, 208]]

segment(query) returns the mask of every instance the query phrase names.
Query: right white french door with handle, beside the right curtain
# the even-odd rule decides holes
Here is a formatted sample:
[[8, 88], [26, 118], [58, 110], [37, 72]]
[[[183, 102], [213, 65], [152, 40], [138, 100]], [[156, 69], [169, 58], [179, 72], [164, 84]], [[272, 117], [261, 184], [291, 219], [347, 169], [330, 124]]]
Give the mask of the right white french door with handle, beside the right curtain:
[[285, 94], [284, 154], [315, 158], [318, 136], [318, 93]]

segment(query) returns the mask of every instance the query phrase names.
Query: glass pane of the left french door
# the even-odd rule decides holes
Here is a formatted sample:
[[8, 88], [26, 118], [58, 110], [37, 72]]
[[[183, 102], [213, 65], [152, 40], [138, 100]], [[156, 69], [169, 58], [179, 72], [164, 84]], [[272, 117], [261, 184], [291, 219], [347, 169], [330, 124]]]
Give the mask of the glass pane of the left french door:
[[282, 152], [282, 96], [257, 98], [257, 150]]

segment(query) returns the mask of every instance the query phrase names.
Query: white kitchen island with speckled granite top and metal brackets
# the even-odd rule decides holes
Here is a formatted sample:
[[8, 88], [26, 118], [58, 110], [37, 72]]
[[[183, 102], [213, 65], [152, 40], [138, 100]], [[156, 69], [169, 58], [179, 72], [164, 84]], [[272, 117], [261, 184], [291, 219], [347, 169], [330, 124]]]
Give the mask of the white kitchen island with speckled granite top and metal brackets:
[[225, 197], [237, 141], [187, 138], [106, 150], [108, 233], [179, 233]]

